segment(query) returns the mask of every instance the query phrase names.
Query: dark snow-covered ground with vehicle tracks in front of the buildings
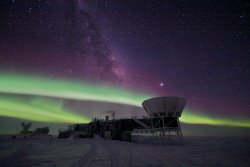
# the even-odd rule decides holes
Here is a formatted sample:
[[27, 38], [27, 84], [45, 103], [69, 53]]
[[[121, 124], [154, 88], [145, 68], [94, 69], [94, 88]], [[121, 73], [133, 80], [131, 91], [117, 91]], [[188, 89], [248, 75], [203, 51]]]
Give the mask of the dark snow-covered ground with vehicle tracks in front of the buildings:
[[185, 144], [94, 139], [0, 139], [0, 166], [250, 166], [248, 137], [185, 137]]

